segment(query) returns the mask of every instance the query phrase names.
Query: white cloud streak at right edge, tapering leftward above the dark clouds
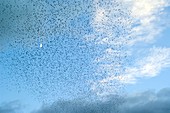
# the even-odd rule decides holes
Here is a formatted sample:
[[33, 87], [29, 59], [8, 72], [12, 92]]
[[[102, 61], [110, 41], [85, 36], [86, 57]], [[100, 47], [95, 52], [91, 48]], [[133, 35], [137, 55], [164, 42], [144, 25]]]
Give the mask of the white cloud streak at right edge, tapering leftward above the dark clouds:
[[136, 83], [139, 78], [155, 77], [163, 68], [170, 67], [170, 48], [152, 48], [150, 54], [134, 64], [134, 66], [126, 68], [123, 75], [109, 76], [99, 82], [105, 83], [113, 80], [124, 84]]

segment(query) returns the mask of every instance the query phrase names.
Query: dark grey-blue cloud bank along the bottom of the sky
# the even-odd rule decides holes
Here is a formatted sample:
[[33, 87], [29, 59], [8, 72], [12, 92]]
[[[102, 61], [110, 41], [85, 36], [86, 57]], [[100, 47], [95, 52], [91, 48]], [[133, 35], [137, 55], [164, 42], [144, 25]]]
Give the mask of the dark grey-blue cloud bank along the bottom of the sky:
[[[17, 113], [17, 108], [11, 106], [11, 103], [9, 108], [1, 106], [0, 113]], [[32, 113], [170, 113], [170, 88], [128, 95], [124, 99], [112, 96], [106, 101], [57, 101]]]

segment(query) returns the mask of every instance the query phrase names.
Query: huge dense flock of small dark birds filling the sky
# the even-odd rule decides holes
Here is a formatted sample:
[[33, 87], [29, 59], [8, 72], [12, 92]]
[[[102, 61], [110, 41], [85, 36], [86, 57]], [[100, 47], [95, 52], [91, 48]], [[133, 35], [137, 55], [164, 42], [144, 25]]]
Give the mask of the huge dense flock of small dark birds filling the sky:
[[47, 100], [119, 90], [98, 81], [125, 69], [129, 14], [119, 0], [1, 0], [1, 83]]

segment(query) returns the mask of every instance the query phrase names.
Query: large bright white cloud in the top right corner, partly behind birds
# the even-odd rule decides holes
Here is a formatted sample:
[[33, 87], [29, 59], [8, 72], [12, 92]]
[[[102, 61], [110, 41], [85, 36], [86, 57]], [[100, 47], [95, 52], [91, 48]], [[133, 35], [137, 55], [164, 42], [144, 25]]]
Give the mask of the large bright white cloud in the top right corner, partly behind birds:
[[[167, 26], [164, 9], [170, 6], [168, 0], [94, 0], [92, 27], [96, 44], [132, 46], [138, 42], [152, 43]], [[120, 27], [122, 29], [120, 29]], [[104, 37], [97, 34], [106, 34]], [[118, 35], [118, 34], [119, 35]], [[93, 38], [94, 39], [94, 34]], [[120, 35], [121, 34], [121, 35]], [[88, 37], [92, 37], [88, 35]], [[85, 36], [87, 37], [87, 36]], [[130, 39], [130, 40], [129, 40]]]

